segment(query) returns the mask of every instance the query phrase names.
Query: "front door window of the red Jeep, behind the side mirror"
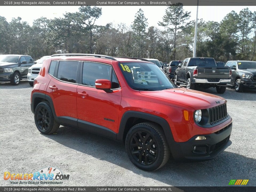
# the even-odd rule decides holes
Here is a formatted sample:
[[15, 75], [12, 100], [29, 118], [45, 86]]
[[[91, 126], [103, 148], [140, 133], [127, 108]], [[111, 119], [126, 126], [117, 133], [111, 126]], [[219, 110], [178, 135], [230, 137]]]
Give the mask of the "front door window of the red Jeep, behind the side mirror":
[[96, 79], [111, 80], [111, 66], [102, 63], [83, 62], [82, 84], [95, 87]]

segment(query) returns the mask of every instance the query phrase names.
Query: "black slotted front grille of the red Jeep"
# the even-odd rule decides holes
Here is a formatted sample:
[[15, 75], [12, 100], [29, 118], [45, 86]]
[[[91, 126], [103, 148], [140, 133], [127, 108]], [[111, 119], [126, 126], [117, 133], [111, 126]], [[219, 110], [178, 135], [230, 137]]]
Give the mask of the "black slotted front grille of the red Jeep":
[[227, 104], [209, 109], [210, 124], [218, 123], [227, 117]]

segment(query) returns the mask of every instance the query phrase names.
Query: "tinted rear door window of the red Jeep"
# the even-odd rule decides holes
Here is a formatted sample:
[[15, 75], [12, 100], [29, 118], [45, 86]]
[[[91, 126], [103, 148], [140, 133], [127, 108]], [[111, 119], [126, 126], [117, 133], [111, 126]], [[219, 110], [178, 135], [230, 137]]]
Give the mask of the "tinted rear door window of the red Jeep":
[[60, 61], [57, 79], [75, 83], [77, 79], [78, 61]]

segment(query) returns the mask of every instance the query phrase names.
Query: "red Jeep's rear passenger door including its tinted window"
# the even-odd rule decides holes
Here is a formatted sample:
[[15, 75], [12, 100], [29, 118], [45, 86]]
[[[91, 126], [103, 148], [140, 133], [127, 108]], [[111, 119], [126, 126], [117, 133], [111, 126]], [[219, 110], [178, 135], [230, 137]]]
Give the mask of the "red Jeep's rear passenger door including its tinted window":
[[[57, 62], [57, 63], [56, 63]], [[51, 78], [47, 87], [55, 113], [59, 118], [77, 121], [77, 82], [79, 61], [52, 61], [50, 65], [57, 65], [54, 77]], [[51, 66], [50, 66], [51, 70]], [[52, 71], [50, 72], [52, 74]]]

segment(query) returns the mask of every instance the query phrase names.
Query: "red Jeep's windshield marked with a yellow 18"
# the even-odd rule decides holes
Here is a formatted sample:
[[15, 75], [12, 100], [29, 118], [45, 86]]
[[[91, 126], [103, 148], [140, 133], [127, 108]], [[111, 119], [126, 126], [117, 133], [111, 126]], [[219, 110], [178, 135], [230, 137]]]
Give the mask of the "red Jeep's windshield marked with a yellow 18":
[[159, 91], [175, 88], [173, 82], [151, 63], [119, 63], [119, 67], [128, 85], [135, 90]]

